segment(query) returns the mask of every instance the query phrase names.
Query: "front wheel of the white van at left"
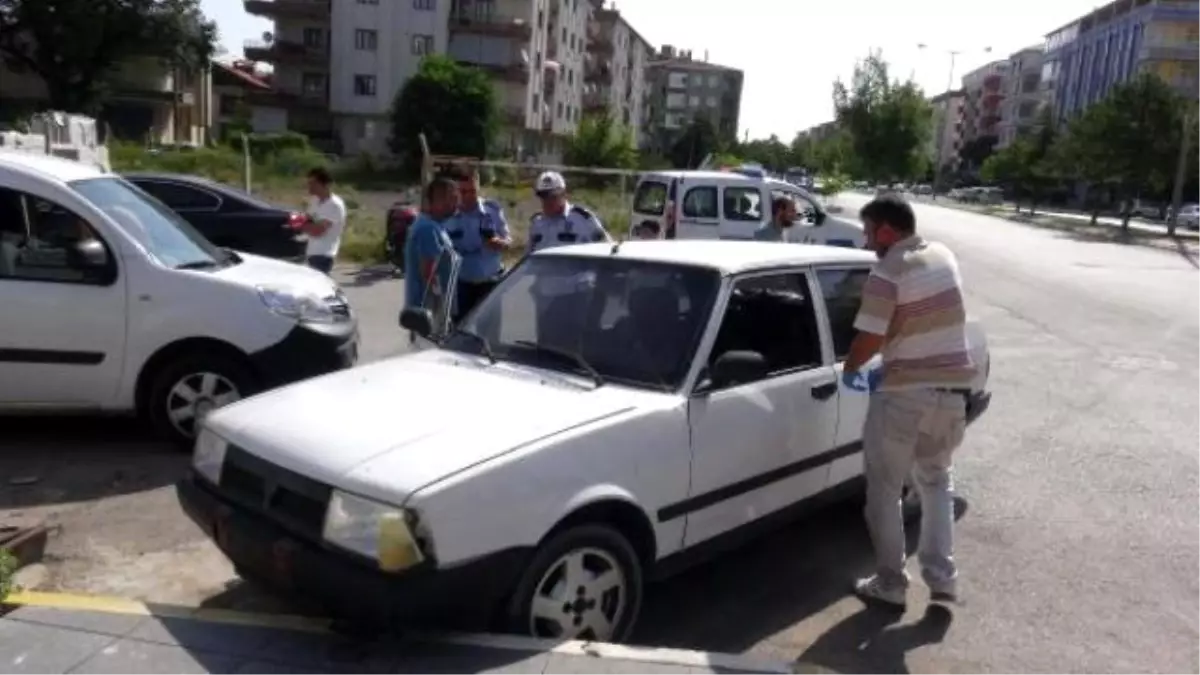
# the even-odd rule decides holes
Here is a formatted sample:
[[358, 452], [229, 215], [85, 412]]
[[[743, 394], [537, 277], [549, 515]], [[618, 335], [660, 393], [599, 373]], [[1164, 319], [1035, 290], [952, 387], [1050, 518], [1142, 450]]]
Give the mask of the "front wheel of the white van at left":
[[248, 396], [253, 386], [250, 369], [236, 359], [185, 354], [155, 374], [145, 414], [163, 438], [191, 449], [204, 417]]

